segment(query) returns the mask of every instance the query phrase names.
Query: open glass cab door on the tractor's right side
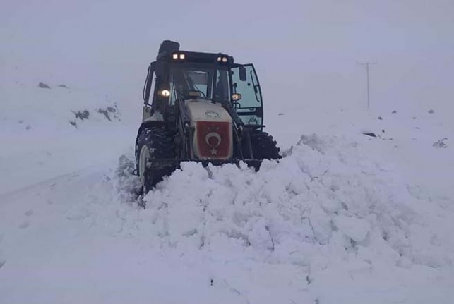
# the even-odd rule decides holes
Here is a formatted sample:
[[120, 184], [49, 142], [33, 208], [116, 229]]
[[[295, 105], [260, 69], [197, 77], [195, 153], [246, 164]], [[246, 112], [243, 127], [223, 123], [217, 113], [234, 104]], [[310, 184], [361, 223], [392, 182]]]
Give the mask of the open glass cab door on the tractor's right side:
[[232, 95], [241, 94], [241, 99], [232, 100], [239, 118], [246, 125], [263, 126], [262, 92], [256, 69], [252, 64], [234, 64], [231, 71]]

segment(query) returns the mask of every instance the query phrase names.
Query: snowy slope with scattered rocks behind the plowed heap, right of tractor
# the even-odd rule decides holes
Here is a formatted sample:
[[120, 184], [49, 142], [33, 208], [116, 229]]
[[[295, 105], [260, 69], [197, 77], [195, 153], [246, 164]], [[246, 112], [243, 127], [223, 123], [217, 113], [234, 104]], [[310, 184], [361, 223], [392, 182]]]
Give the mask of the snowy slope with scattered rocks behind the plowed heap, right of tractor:
[[454, 197], [454, 123], [448, 104], [444, 108], [407, 104], [401, 109], [380, 111], [342, 104], [325, 107], [318, 102], [271, 106], [278, 110], [268, 111], [265, 124], [281, 148], [294, 145], [301, 134], [365, 137], [365, 133], [370, 133], [375, 137], [358, 139], [364, 143], [364, 155], [392, 164], [411, 188], [421, 189], [417, 191], [423, 196], [431, 193], [428, 199]]

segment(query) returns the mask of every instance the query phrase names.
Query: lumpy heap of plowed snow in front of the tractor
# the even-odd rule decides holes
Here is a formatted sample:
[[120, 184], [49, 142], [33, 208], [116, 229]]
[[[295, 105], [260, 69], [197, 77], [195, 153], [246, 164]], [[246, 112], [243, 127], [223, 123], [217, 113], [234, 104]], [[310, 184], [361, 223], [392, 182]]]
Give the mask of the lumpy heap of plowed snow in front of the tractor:
[[443, 220], [448, 224], [446, 209], [413, 197], [380, 164], [358, 158], [355, 145], [304, 136], [279, 164], [265, 161], [258, 173], [185, 163], [145, 197], [145, 213], [156, 236], [181, 250], [222, 245], [253, 259], [307, 266], [330, 250], [400, 267], [450, 265], [450, 251], [433, 245], [450, 243], [438, 233]]

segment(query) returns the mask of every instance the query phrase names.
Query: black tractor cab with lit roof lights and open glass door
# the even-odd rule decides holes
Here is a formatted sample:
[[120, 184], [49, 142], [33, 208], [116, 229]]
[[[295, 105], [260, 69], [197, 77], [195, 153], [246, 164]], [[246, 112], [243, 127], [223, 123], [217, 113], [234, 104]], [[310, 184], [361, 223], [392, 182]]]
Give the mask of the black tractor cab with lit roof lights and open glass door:
[[221, 53], [180, 51], [175, 44], [161, 47], [148, 68], [143, 98], [143, 121], [155, 111], [172, 121], [178, 100], [205, 99], [229, 103], [245, 125], [263, 125], [261, 88], [253, 65], [234, 63], [232, 56]]

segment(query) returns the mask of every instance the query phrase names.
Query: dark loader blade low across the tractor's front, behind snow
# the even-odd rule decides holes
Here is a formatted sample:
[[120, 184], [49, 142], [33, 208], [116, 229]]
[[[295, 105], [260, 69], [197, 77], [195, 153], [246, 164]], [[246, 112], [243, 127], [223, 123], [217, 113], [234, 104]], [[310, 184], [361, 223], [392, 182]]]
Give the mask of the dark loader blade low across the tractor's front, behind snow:
[[147, 169], [150, 170], [165, 170], [172, 171], [176, 169], [181, 169], [181, 162], [198, 162], [202, 166], [208, 166], [208, 164], [213, 164], [213, 166], [222, 166], [223, 164], [236, 164], [239, 166], [240, 162], [244, 162], [247, 166], [253, 167], [256, 171], [260, 169], [262, 164], [261, 160], [258, 159], [235, 159], [235, 160], [221, 160], [221, 159], [153, 159], [147, 164]]

